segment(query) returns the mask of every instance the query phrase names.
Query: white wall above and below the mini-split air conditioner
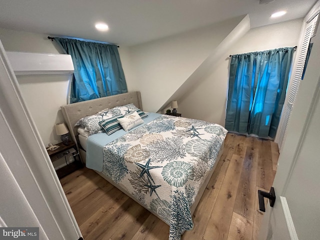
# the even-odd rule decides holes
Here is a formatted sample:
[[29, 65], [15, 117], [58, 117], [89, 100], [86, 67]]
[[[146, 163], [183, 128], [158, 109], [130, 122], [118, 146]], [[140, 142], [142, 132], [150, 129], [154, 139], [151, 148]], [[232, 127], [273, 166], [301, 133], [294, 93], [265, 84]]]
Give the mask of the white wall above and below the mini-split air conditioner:
[[[63, 53], [47, 34], [0, 28], [0, 39], [6, 51]], [[64, 121], [60, 105], [66, 104], [68, 76], [17, 76], [17, 80], [44, 145], [60, 142], [54, 124]]]

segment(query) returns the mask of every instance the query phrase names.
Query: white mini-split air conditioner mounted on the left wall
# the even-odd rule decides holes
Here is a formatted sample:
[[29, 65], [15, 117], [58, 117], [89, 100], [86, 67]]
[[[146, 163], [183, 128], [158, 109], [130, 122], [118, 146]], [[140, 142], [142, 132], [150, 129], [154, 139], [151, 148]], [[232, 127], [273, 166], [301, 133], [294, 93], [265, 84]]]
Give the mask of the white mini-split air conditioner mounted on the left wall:
[[15, 75], [71, 74], [74, 71], [68, 54], [6, 51]]

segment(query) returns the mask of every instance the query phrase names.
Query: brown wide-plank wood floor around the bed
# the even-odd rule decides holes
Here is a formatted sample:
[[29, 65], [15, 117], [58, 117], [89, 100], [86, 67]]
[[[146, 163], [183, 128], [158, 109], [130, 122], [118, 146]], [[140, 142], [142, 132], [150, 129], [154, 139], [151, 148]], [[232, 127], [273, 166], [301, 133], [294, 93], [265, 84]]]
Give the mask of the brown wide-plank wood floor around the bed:
[[[257, 190], [270, 189], [277, 159], [274, 142], [228, 133], [193, 229], [181, 239], [256, 239], [263, 216]], [[168, 239], [168, 225], [93, 170], [82, 168], [60, 181], [84, 240]]]

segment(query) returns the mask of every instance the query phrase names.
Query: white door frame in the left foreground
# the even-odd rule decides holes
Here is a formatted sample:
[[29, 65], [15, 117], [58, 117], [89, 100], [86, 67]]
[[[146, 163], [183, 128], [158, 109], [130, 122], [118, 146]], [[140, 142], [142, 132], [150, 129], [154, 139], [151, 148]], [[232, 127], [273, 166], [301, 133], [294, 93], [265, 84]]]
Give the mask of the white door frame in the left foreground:
[[[39, 109], [40, 110], [40, 109]], [[37, 219], [40, 239], [78, 239], [80, 229], [60, 181], [19, 90], [19, 85], [0, 41], [1, 162], [8, 178], [1, 183], [20, 191], [30, 218]], [[4, 170], [5, 170], [4, 169]], [[10, 195], [10, 192], [7, 192]], [[35, 226], [19, 213], [17, 202], [2, 205], [2, 226]], [[3, 204], [3, 203], [2, 203]], [[16, 204], [16, 205], [15, 205]]]

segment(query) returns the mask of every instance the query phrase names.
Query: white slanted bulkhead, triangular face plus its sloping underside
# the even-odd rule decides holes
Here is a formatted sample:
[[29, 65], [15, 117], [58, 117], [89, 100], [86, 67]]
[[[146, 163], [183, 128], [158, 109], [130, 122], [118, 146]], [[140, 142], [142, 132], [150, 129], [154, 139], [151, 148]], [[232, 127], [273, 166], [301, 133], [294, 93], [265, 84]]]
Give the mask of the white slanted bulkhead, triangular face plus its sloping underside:
[[170, 100], [179, 100], [211, 73], [215, 61], [227, 54], [230, 44], [249, 28], [249, 17], [245, 15], [130, 47], [133, 81], [141, 92], [143, 109], [157, 112]]

